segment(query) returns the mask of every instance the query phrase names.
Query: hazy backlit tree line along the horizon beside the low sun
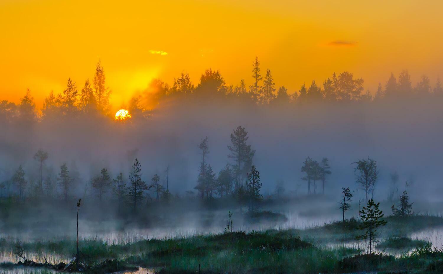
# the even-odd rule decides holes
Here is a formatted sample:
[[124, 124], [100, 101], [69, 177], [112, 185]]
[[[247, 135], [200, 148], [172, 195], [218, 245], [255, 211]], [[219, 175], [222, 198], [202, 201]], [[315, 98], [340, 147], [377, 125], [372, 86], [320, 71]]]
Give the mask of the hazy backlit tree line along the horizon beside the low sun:
[[[407, 70], [397, 78], [391, 74], [385, 84], [378, 85], [374, 96], [369, 90], [364, 92], [363, 78], [355, 78], [354, 74], [344, 71], [332, 74], [321, 85], [312, 81], [309, 86], [303, 84], [299, 90], [288, 94], [284, 86], [276, 87], [271, 70], [267, 69], [262, 75], [258, 56], [252, 64], [252, 84], [247, 87], [242, 79], [237, 85], [225, 83], [219, 70], [206, 70], [200, 77], [198, 85], [190, 80], [190, 75], [182, 72], [173, 79], [173, 84], [154, 79], [142, 94], [132, 97], [127, 106], [134, 118], [151, 117], [152, 109], [161, 106], [165, 100], [179, 98], [187, 99], [223, 99], [239, 100], [245, 104], [299, 106], [319, 102], [359, 101], [377, 102], [382, 100], [402, 100], [437, 97], [443, 98], [443, 87], [438, 78], [435, 86], [431, 87], [427, 76], [422, 76], [415, 85]], [[61, 117], [76, 117], [78, 115], [112, 116], [109, 98], [111, 90], [106, 86], [105, 70], [101, 62], [96, 65], [92, 82], [86, 79], [82, 88], [76, 82], [67, 79], [66, 88], [58, 94], [53, 91], [44, 99], [40, 113], [35, 109], [35, 102], [30, 89], [27, 90], [19, 104], [3, 100], [0, 102], [0, 115], [6, 121], [41, 121]], [[186, 101], [186, 100], [184, 100]]]

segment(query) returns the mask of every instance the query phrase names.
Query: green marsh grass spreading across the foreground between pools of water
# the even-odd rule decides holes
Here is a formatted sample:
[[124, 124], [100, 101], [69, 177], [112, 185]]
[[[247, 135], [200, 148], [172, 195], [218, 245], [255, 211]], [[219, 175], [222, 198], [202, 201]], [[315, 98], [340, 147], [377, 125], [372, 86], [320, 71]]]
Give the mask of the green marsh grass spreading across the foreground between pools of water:
[[[428, 219], [427, 219], [428, 218]], [[387, 217], [383, 234], [392, 234], [397, 227], [417, 231], [425, 226], [438, 226], [441, 218], [411, 216]], [[406, 237], [390, 236], [380, 247], [414, 248], [408, 254], [363, 254], [346, 247], [326, 248], [311, 239], [335, 241], [354, 240], [359, 223], [356, 220], [334, 222], [307, 230], [268, 230], [233, 232], [215, 235], [194, 235], [173, 239], [138, 240], [132, 243], [108, 244], [100, 239], [84, 239], [80, 252], [90, 262], [114, 260], [124, 265], [156, 268], [161, 273], [351, 273], [379, 271], [385, 273], [443, 273], [443, 252], [429, 243]], [[315, 235], [315, 237], [313, 237]], [[0, 240], [0, 251], [12, 250], [16, 242]], [[55, 252], [70, 258], [75, 241], [53, 239], [23, 243], [28, 252]], [[406, 272], [404, 272], [406, 271]]]

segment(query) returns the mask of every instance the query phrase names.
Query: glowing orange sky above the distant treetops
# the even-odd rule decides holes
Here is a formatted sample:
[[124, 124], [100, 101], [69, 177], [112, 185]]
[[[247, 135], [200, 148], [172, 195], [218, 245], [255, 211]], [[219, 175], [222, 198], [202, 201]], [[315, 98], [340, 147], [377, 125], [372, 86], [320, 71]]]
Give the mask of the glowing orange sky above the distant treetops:
[[80, 89], [99, 59], [115, 108], [182, 70], [194, 83], [212, 67], [249, 85], [255, 55], [291, 93], [334, 71], [372, 91], [404, 68], [413, 82], [443, 75], [443, 1], [296, 2], [0, 0], [0, 99], [29, 87], [41, 106], [68, 77]]

